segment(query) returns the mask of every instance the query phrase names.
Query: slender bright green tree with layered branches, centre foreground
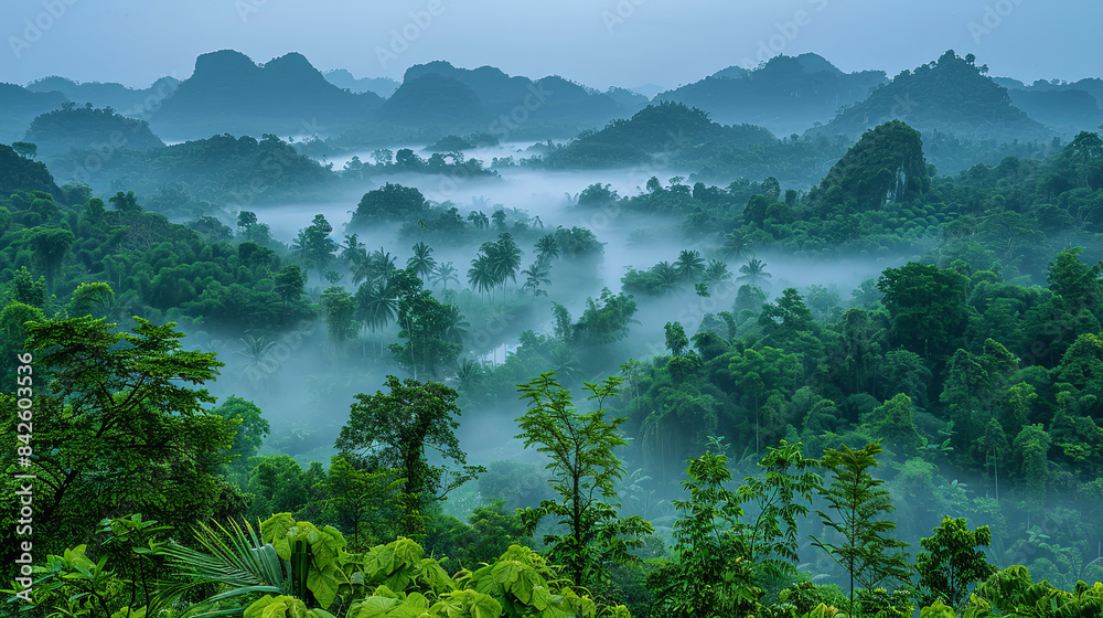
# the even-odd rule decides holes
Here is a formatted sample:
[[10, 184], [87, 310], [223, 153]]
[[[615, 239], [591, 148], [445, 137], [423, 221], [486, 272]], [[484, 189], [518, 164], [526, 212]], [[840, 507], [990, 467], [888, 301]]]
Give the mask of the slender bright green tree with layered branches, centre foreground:
[[524, 438], [526, 448], [537, 445], [537, 451], [548, 455], [548, 482], [559, 494], [558, 500], [544, 500], [536, 509], [521, 511], [525, 531], [531, 534], [548, 515], [565, 525], [566, 534], [545, 536], [548, 555], [564, 566], [575, 586], [598, 596], [608, 586], [606, 565], [633, 562], [629, 550], [642, 544], [640, 535], [653, 532], [641, 518], [617, 513], [613, 482], [624, 467], [613, 449], [628, 444], [617, 431], [624, 418], [607, 422], [601, 407], [606, 398], [619, 393], [622, 382], [610, 376], [601, 384], [585, 383], [582, 390], [590, 393], [587, 399], [597, 399], [598, 409], [589, 414], [574, 407], [570, 391], [559, 385], [553, 372], [517, 386], [521, 398], [528, 399], [528, 411], [517, 419], [522, 434], [516, 437]]

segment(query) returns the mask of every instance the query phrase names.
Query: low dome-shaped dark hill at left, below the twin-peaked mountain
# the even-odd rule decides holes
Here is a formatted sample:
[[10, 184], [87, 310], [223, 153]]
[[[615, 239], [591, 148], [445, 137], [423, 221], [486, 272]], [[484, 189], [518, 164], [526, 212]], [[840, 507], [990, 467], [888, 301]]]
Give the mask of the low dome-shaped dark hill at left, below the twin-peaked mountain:
[[66, 105], [49, 114], [43, 114], [31, 122], [24, 141], [38, 145], [39, 156], [50, 158], [78, 150], [149, 150], [164, 148], [149, 129], [144, 120], [125, 118], [111, 109], [96, 109], [92, 104], [85, 107]]

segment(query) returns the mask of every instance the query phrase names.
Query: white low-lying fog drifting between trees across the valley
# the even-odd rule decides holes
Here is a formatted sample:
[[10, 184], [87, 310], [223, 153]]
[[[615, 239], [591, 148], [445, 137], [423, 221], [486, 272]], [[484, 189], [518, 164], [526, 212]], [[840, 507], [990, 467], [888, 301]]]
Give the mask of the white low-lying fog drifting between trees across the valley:
[[[495, 147], [499, 149], [507, 147]], [[489, 152], [488, 152], [489, 153]], [[480, 154], [486, 156], [481, 152]], [[499, 156], [499, 154], [493, 154]], [[351, 157], [351, 154], [350, 154]], [[344, 241], [344, 225], [349, 223], [356, 204], [364, 192], [381, 187], [384, 182], [399, 182], [408, 187], [417, 187], [422, 194], [435, 202], [452, 202], [465, 217], [471, 211], [482, 211], [488, 215], [501, 205], [508, 212], [518, 209], [527, 213], [531, 225], [545, 231], [554, 231], [557, 226], [585, 227], [593, 232], [604, 244], [604, 255], [596, 264], [571, 264], [569, 259], [555, 262], [552, 270], [552, 284], [547, 288], [548, 297], [535, 302], [534, 311], [527, 320], [506, 322], [490, 337], [479, 339], [478, 343], [469, 344], [461, 358], [502, 363], [508, 351], [518, 345], [520, 334], [527, 329], [550, 332], [550, 301], [559, 302], [568, 308], [571, 317], [577, 320], [586, 308], [588, 297], [596, 298], [602, 287], [613, 292], [621, 289], [621, 277], [630, 267], [646, 269], [654, 264], [667, 260], [675, 262], [683, 249], [696, 249], [706, 259], [719, 257], [718, 247], [722, 242], [719, 231], [717, 235], [706, 241], [688, 241], [681, 232], [681, 221], [675, 219], [640, 215], [624, 209], [581, 210], [574, 205], [577, 194], [593, 183], [610, 184], [622, 196], [639, 194], [647, 179], [660, 178], [664, 184], [668, 179], [678, 175], [676, 170], [625, 169], [593, 170], [571, 172], [533, 171], [521, 168], [499, 170], [502, 178], [459, 180], [448, 177], [428, 174], [401, 174], [377, 177], [365, 182], [363, 188], [340, 195], [332, 201], [317, 203], [287, 203], [278, 206], [258, 206], [258, 219], [271, 227], [271, 234], [277, 239], [290, 244], [296, 234], [308, 226], [315, 214], [325, 215], [334, 226], [332, 237], [339, 243]], [[684, 175], [684, 173], [682, 174]], [[513, 217], [511, 217], [513, 219]], [[539, 230], [536, 231], [538, 235]], [[381, 247], [395, 256], [396, 264], [404, 267], [410, 257], [410, 245], [414, 242], [398, 238], [398, 226], [386, 225], [370, 231], [360, 231], [360, 241], [368, 251]], [[493, 239], [496, 232], [493, 227], [483, 231], [483, 236], [469, 246], [437, 246], [433, 257], [438, 264], [452, 262], [460, 288], [467, 287], [467, 270], [474, 258], [479, 244], [484, 239]], [[522, 256], [522, 267], [527, 267], [534, 259], [533, 242], [517, 238], [525, 252]], [[429, 243], [432, 246], [432, 243]], [[840, 300], [846, 303], [849, 292], [861, 281], [876, 278], [885, 268], [898, 266], [917, 256], [879, 257], [876, 259], [850, 259], [828, 263], [822, 259], [781, 256], [761, 252], [758, 254], [767, 264], [767, 271], [772, 275], [767, 290], [774, 298], [786, 287], [796, 287], [802, 292], [811, 285], [834, 286]], [[728, 268], [738, 276], [742, 262], [728, 260]], [[518, 277], [516, 284], [508, 284], [504, 294], [512, 294], [522, 285]], [[317, 296], [330, 284], [311, 273], [308, 291]], [[346, 276], [340, 285], [350, 291], [352, 283]], [[457, 286], [452, 284], [450, 288]], [[736, 285], [717, 286], [710, 298], [700, 299], [693, 290], [663, 298], [635, 298], [638, 310], [634, 319], [639, 322], [632, 326], [632, 335], [617, 344], [620, 360], [606, 369], [604, 375], [619, 372], [617, 365], [629, 358], [643, 359], [655, 353], [665, 353], [663, 324], [667, 321], [681, 321], [690, 335], [696, 332], [702, 313], [730, 311], [735, 300]], [[497, 295], [502, 291], [495, 292]], [[469, 302], [464, 308], [469, 320], [489, 303]], [[397, 328], [392, 326], [384, 332], [370, 335], [366, 345], [385, 345], [397, 341]], [[272, 448], [292, 451], [300, 459], [321, 460], [329, 465], [332, 444], [340, 427], [349, 415], [349, 406], [356, 393], [374, 393], [384, 381], [386, 373], [398, 370], [379, 364], [361, 370], [355, 375], [334, 371], [335, 366], [326, 347], [324, 327], [304, 327], [298, 332], [283, 335], [277, 342], [279, 358], [277, 363], [263, 367], [258, 380], [256, 367], [249, 369], [246, 358], [238, 353], [243, 348], [240, 341], [213, 341], [212, 345], [221, 352], [219, 359], [227, 362], [224, 369], [224, 381], [214, 391], [221, 396], [231, 394], [233, 387], [237, 395], [253, 398], [265, 411], [272, 423], [272, 436], [268, 444]], [[601, 380], [603, 375], [587, 376], [587, 380]], [[488, 464], [495, 459], [514, 457], [522, 451], [521, 444], [512, 437], [517, 433], [513, 419], [521, 416], [524, 406], [521, 402], [507, 409], [465, 409], [461, 428], [458, 431], [463, 448], [468, 450], [469, 462]], [[307, 459], [307, 460], [309, 460]]]

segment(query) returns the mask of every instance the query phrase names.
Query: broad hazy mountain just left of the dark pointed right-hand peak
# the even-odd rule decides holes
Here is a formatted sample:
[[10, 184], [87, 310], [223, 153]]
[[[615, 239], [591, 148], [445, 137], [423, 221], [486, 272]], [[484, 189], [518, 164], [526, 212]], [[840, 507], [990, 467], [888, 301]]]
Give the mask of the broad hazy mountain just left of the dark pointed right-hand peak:
[[816, 54], [777, 56], [754, 71], [730, 66], [657, 95], [709, 113], [718, 122], [751, 124], [775, 135], [803, 132], [885, 84], [881, 71], [843, 73]]

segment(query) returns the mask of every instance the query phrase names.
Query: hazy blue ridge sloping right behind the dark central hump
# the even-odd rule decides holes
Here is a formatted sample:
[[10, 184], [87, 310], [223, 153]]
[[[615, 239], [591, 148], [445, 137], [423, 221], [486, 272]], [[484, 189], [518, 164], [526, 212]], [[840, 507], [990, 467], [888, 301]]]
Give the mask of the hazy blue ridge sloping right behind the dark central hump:
[[559, 76], [533, 81], [520, 75], [511, 77], [493, 66], [457, 68], [443, 61], [416, 64], [406, 71], [403, 83], [431, 74], [461, 82], [478, 95], [494, 118], [504, 116], [518, 125], [532, 121], [600, 126], [634, 110], [608, 94]]

